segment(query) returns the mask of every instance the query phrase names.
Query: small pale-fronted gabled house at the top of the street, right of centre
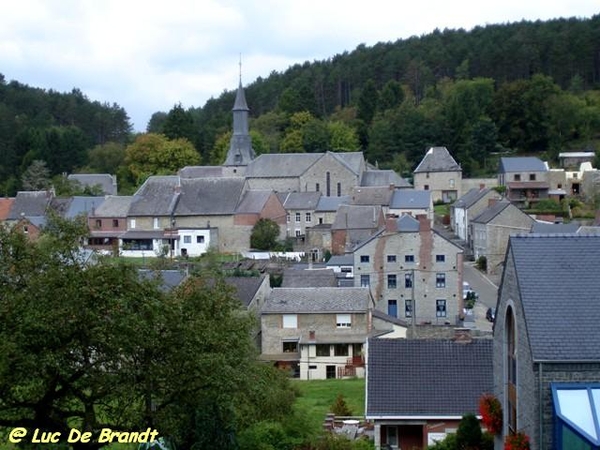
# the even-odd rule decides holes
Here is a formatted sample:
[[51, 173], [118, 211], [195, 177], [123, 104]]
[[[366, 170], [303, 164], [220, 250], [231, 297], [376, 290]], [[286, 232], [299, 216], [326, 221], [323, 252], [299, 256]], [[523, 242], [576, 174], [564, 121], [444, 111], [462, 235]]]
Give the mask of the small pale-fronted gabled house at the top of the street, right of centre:
[[489, 206], [490, 200], [500, 200], [502, 196], [493, 189], [479, 186], [469, 189], [452, 206], [450, 206], [450, 226], [463, 241], [470, 243], [469, 219], [476, 217]]

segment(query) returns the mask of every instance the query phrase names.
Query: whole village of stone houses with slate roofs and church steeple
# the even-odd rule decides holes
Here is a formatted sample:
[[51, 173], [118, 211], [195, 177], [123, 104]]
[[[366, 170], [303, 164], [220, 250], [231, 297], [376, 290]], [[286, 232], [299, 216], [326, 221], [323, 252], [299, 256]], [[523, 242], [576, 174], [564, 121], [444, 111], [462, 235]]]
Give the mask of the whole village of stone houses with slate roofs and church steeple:
[[[240, 83], [221, 166], [151, 176], [131, 196], [114, 175], [71, 174], [102, 195], [20, 191], [0, 219], [35, 240], [49, 214], [83, 214], [86, 257], [176, 261], [167, 287], [194, 259], [236, 255], [257, 272], [227, 282], [258, 318], [260, 359], [301, 380], [366, 378], [376, 449], [434, 444], [484, 394], [502, 404], [496, 448], [517, 430], [533, 448], [600, 446], [594, 153], [557, 168], [500, 155], [496, 178], [463, 179], [431, 147], [407, 180], [362, 152], [256, 156], [248, 111]], [[261, 220], [292, 251], [255, 251]]]

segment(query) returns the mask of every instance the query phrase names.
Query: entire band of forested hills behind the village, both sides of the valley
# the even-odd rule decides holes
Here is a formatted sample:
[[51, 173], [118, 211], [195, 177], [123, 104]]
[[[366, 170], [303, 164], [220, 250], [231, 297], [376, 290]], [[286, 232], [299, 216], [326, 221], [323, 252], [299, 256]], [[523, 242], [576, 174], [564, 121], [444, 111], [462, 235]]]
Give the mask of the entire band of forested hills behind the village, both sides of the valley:
[[[143, 177], [173, 171], [140, 169], [148, 143], [158, 154], [175, 145], [185, 161], [220, 164], [236, 87], [199, 108], [156, 112], [147, 131], [166, 140], [135, 145], [127, 113], [116, 103], [0, 75], [2, 194], [23, 188], [27, 168], [38, 160], [49, 177], [116, 173], [123, 192], [131, 192]], [[507, 152], [552, 161], [559, 151], [600, 148], [600, 15], [360, 45], [272, 72], [245, 90], [257, 153], [363, 150], [370, 163], [404, 175], [432, 145], [448, 147], [466, 176], [494, 173], [497, 155]], [[199, 155], [183, 140], [174, 143], [179, 138]]]

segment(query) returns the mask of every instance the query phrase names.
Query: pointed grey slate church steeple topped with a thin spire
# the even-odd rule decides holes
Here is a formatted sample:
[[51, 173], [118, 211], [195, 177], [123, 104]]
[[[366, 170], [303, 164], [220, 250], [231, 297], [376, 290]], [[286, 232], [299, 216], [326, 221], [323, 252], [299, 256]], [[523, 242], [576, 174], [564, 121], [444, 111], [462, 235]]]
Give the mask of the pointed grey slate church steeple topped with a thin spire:
[[242, 87], [242, 62], [240, 59], [240, 82], [233, 104], [233, 134], [229, 143], [225, 166], [246, 166], [256, 156], [252, 148], [252, 138], [248, 131], [250, 109]]

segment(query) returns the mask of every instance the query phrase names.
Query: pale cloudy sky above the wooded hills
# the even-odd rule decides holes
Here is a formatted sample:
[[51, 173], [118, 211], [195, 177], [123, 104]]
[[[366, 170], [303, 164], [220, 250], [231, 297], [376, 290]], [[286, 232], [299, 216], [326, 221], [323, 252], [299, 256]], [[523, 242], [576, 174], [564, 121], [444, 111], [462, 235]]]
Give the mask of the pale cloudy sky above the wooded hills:
[[[0, 0], [0, 73], [117, 103], [135, 131], [157, 111], [358, 45], [443, 30], [590, 18], [598, 0]], [[252, 106], [250, 105], [250, 108]]]

